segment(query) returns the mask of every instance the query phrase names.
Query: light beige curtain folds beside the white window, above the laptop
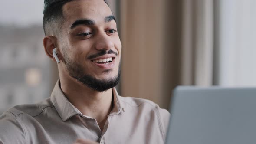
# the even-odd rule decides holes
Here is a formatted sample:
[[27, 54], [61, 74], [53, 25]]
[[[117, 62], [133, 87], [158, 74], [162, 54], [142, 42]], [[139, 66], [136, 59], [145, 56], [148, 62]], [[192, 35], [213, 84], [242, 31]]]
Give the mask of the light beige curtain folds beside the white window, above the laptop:
[[213, 0], [181, 5], [181, 85], [213, 84]]

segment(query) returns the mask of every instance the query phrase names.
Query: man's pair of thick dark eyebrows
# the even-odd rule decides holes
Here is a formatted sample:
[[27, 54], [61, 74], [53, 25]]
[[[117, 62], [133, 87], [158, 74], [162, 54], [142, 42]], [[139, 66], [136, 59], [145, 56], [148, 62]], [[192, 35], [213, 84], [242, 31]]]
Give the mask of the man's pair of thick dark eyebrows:
[[[112, 20], [115, 20], [115, 16], [107, 16], [107, 17], [105, 17], [105, 23], [108, 23], [108, 22], [110, 22], [110, 21], [112, 21]], [[116, 20], [115, 20], [115, 22], [116, 22]], [[95, 25], [95, 21], [94, 20], [92, 20], [92, 19], [79, 19], [79, 20], [76, 20], [73, 24], [72, 24], [72, 26], [70, 27], [70, 29], [73, 29], [73, 28], [75, 28], [76, 26], [78, 26], [78, 25], [87, 25], [87, 26], [91, 26], [91, 25]]]

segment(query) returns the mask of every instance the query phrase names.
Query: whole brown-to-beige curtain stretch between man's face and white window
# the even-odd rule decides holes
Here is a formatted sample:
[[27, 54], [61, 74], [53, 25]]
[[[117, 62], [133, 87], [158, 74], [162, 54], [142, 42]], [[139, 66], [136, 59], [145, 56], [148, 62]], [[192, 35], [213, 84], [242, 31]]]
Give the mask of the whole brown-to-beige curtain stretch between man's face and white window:
[[177, 85], [212, 85], [213, 0], [121, 0], [121, 95], [169, 108]]

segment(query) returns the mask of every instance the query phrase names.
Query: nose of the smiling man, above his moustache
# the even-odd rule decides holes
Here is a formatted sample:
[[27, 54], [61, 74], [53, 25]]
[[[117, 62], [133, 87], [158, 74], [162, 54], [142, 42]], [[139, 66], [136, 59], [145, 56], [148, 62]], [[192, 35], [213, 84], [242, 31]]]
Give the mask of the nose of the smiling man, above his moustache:
[[111, 36], [108, 36], [106, 33], [100, 33], [97, 36], [95, 43], [95, 48], [97, 50], [108, 50], [114, 47], [114, 43], [111, 39]]

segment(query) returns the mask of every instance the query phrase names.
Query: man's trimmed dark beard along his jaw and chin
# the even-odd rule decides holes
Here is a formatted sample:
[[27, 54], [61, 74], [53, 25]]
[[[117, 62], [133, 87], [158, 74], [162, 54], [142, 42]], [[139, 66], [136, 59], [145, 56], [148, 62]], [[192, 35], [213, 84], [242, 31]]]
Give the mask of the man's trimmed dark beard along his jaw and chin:
[[[115, 87], [121, 79], [121, 61], [118, 67], [118, 74], [114, 78], [97, 79], [89, 74], [86, 74], [83, 66], [73, 62], [65, 53], [63, 55], [64, 63], [66, 64], [66, 70], [69, 75], [94, 91], [105, 92], [108, 89]], [[105, 73], [111, 71], [111, 69], [108, 69], [105, 70]]]

